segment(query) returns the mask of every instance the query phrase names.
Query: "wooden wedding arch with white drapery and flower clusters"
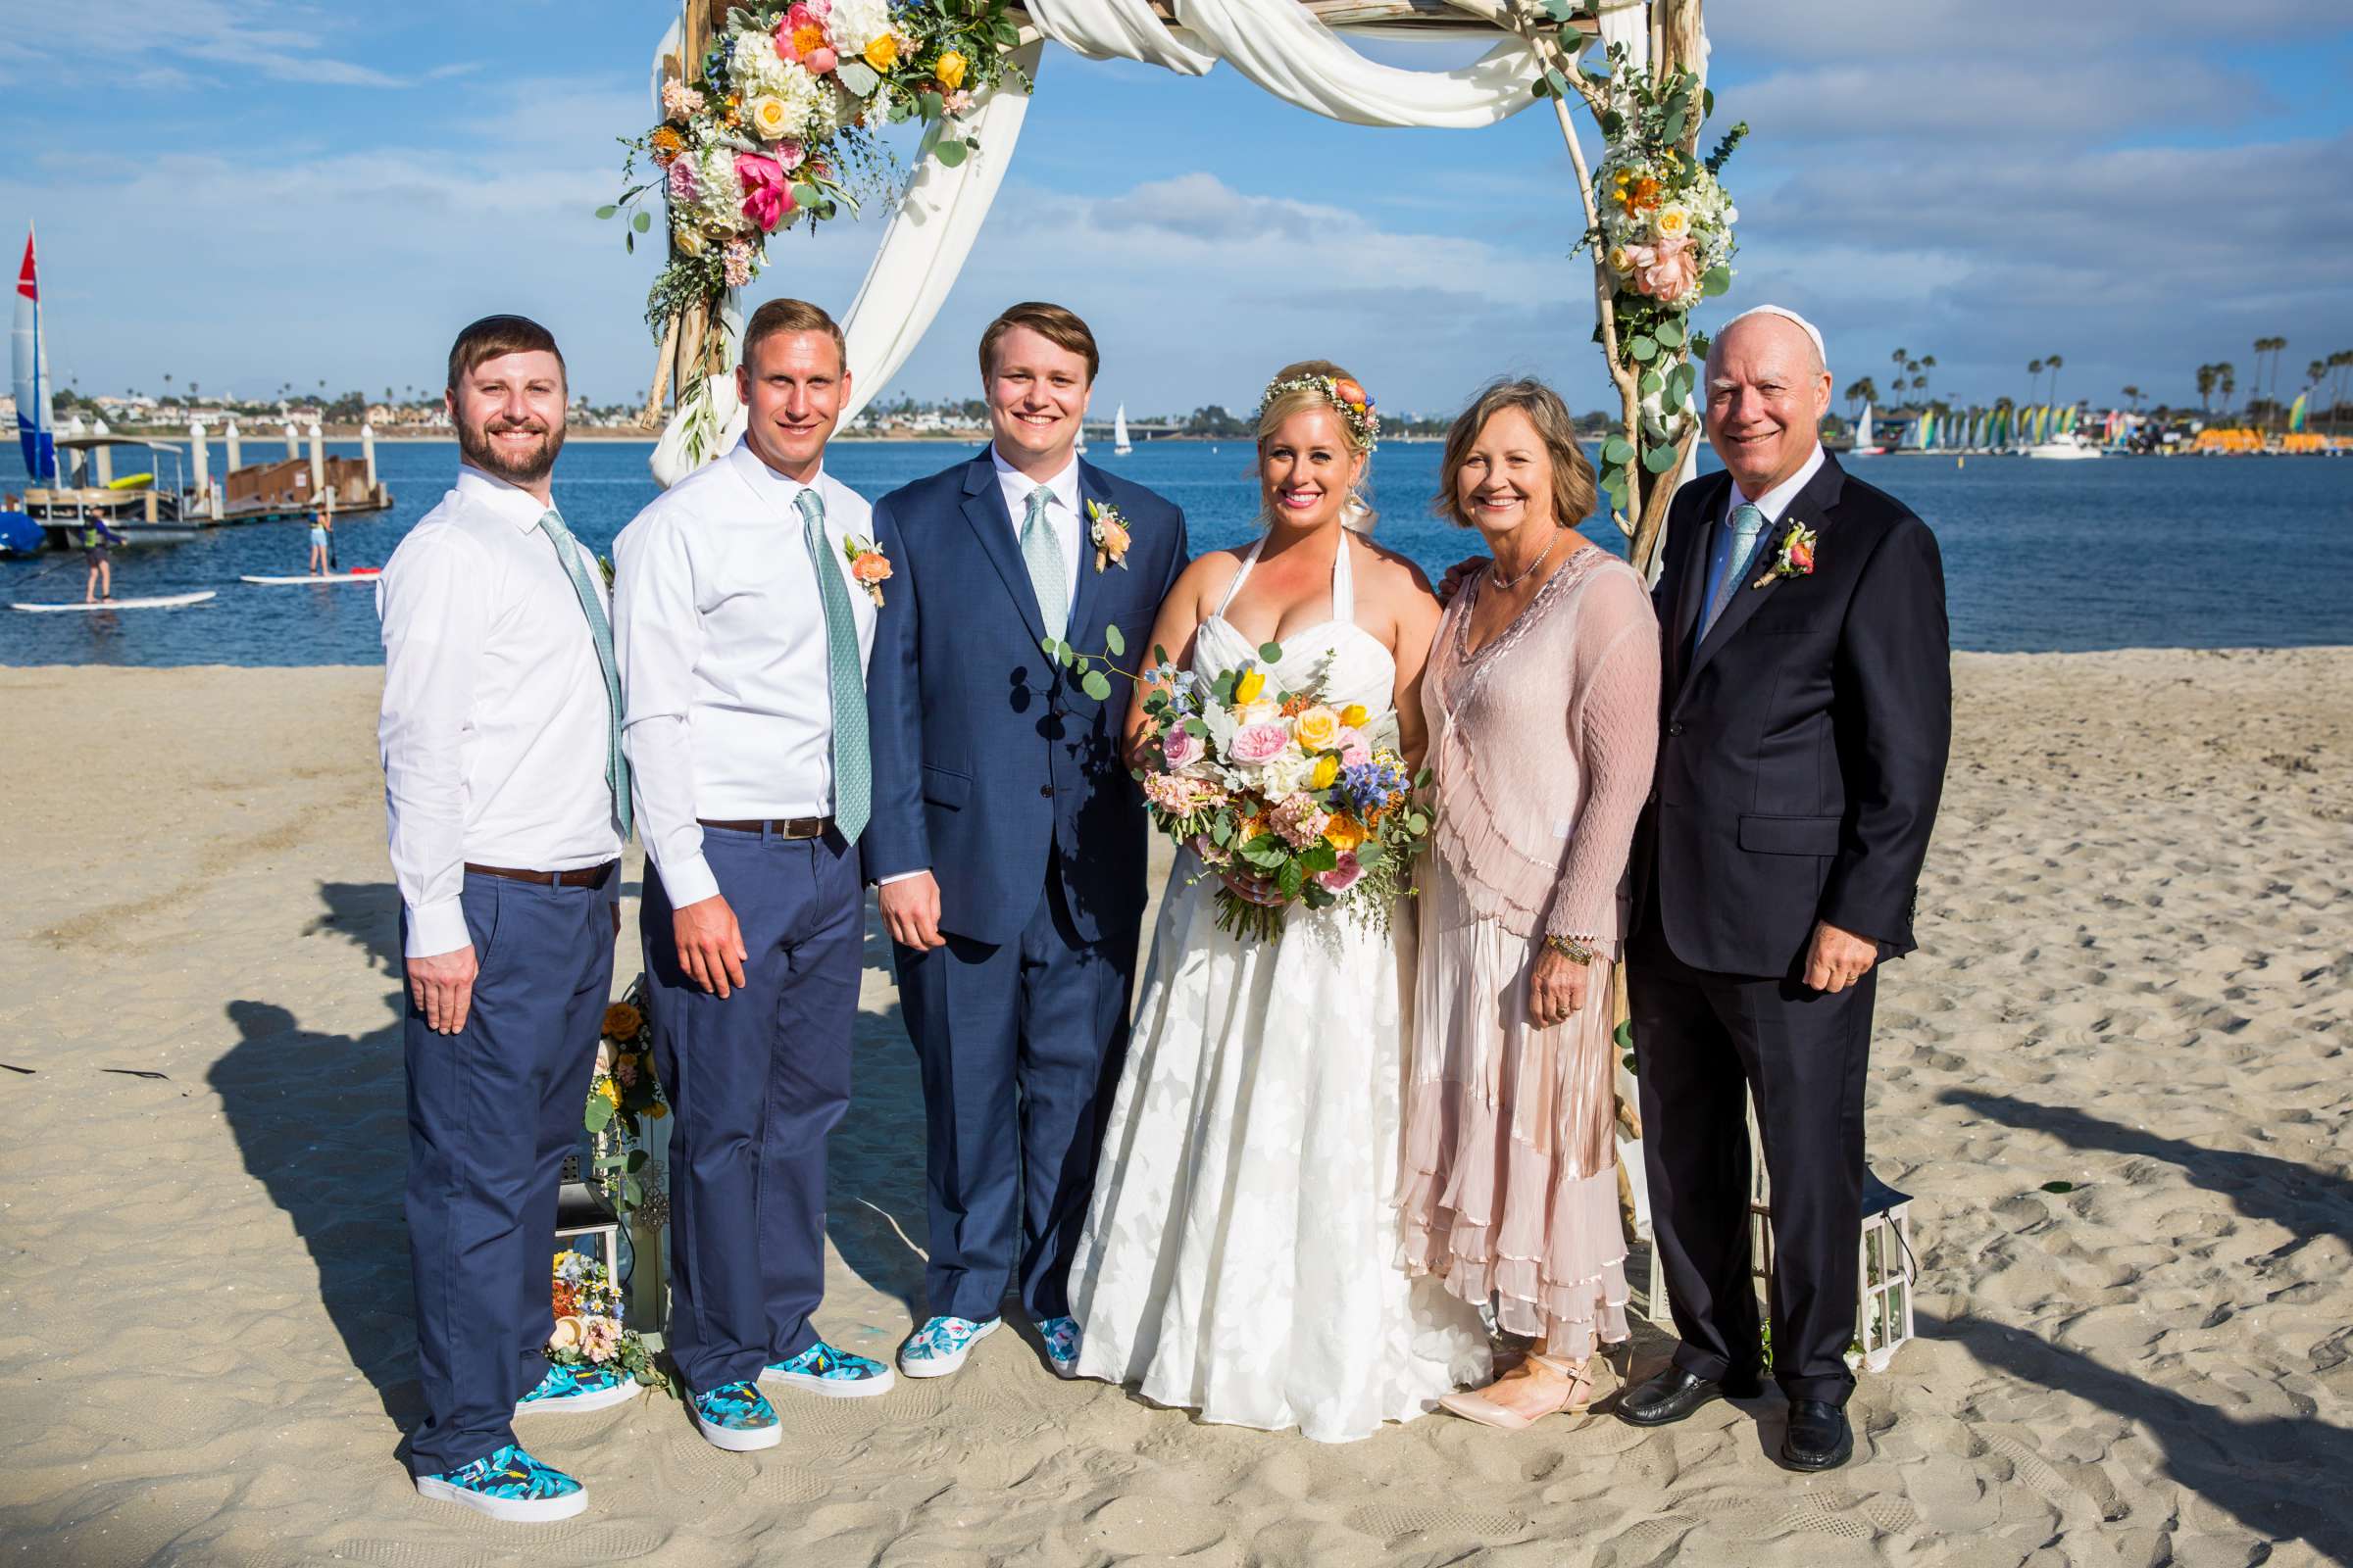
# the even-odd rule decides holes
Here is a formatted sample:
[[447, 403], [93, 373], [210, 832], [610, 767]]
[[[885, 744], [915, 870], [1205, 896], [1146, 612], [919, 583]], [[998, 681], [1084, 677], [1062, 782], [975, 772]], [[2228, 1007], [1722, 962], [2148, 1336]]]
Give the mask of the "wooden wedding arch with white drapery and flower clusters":
[[[1348, 35], [1489, 40], [1466, 66], [1367, 59]], [[861, 183], [894, 195], [842, 331], [854, 402], [880, 393], [965, 266], [1012, 165], [1045, 42], [1179, 75], [1224, 61], [1299, 108], [1353, 125], [1485, 127], [1548, 103], [1577, 172], [1595, 343], [1619, 393], [1600, 480], [1628, 555], [1649, 576], [1666, 505], [1699, 440], [1692, 310], [1732, 282], [1739, 219], [1706, 155], [1701, 0], [685, 0], [654, 49], [659, 125], [633, 139], [624, 193], [600, 209], [666, 261], [647, 301], [659, 341], [645, 425], [664, 484], [741, 430], [734, 397], [741, 292], [767, 237], [856, 212]], [[1569, 103], [1602, 136], [1586, 160]], [[875, 132], [922, 122], [911, 179], [889, 181]], [[1617, 978], [1624, 1034], [1624, 971]], [[1647, 1227], [1640, 1119], [1619, 1074], [1621, 1199]], [[1657, 1312], [1657, 1302], [1652, 1302]]]

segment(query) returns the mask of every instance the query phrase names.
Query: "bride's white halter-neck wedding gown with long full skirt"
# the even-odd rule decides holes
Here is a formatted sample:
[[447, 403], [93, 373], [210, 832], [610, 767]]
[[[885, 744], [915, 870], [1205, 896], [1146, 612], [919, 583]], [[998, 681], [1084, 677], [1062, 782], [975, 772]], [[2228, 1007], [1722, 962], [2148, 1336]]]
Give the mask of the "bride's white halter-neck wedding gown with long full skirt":
[[[1332, 618], [1282, 642], [1275, 689], [1362, 703], [1395, 733], [1395, 661], [1353, 623], [1344, 541]], [[1219, 614], [1217, 679], [1259, 651]], [[1327, 663], [1329, 661], [1329, 663]], [[1217, 877], [1176, 856], [1071, 1265], [1078, 1371], [1240, 1427], [1344, 1443], [1485, 1382], [1478, 1314], [1398, 1265], [1398, 1138], [1414, 912], [1381, 933], [1292, 905], [1282, 936], [1217, 926]]]

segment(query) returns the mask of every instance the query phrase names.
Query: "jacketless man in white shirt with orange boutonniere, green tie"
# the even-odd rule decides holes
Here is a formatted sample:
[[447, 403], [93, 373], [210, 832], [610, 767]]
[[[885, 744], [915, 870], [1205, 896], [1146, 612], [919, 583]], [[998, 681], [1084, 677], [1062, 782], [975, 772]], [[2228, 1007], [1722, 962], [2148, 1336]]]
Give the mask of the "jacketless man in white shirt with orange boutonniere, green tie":
[[760, 1385], [882, 1394], [819, 1338], [826, 1133], [849, 1105], [880, 557], [826, 475], [842, 334], [776, 299], [744, 327], [744, 440], [614, 541], [624, 745], [645, 823], [645, 969], [671, 1133], [671, 1354], [704, 1436], [774, 1446]]

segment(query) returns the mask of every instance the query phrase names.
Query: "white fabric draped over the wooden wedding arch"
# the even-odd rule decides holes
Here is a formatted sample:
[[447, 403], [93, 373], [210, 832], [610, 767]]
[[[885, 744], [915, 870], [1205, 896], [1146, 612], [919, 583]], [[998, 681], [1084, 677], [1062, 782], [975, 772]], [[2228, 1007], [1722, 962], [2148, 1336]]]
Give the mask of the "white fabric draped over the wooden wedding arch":
[[[1459, 5], [1478, 16], [1494, 14], [1487, 0]], [[1628, 9], [1638, 19], [1635, 33], [1647, 38], [1642, 5]], [[1035, 33], [1089, 59], [1136, 59], [1184, 75], [1202, 75], [1226, 61], [1278, 99], [1351, 125], [1480, 127], [1537, 101], [1527, 92], [1537, 63], [1515, 38], [1468, 66], [1407, 71], [1365, 59], [1297, 0], [1176, 0], [1176, 28], [1162, 24], [1146, 0], [1033, 0], [1028, 12]], [[1602, 16], [1607, 26], [1612, 14]], [[1033, 38], [1014, 56], [1033, 80], [1042, 38]], [[656, 99], [661, 59], [675, 49], [678, 24], [654, 52]], [[986, 94], [967, 118], [979, 150], [953, 169], [927, 158], [892, 212], [866, 282], [842, 317], [852, 376], [842, 418], [854, 418], [866, 400], [889, 386], [955, 287], [1005, 183], [1028, 96], [1019, 87]], [[729, 327], [734, 320], [739, 317], [732, 315]], [[741, 435], [744, 411], [734, 402], [734, 388], [713, 383], [711, 397], [708, 414], [694, 409], [671, 418], [652, 458], [656, 482], [680, 480]]]

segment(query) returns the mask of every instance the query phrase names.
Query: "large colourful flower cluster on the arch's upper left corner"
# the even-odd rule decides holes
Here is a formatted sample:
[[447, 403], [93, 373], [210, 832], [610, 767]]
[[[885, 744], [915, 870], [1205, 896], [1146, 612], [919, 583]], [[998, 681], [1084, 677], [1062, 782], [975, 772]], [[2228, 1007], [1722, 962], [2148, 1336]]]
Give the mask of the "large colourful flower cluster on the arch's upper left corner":
[[[859, 209], [859, 190], [892, 183], [875, 134], [927, 127], [918, 158], [955, 167], [974, 150], [958, 120], [1005, 75], [1021, 40], [1005, 0], [755, 0], [727, 12], [701, 80], [666, 82], [664, 120], [631, 139], [621, 200], [626, 237], [652, 228], [633, 207], [661, 195], [671, 263], [647, 296], [656, 336], [692, 303], [741, 289], [767, 261], [767, 237]], [[1024, 82], [1026, 87], [1026, 82]], [[652, 176], [638, 179], [638, 158]]]

